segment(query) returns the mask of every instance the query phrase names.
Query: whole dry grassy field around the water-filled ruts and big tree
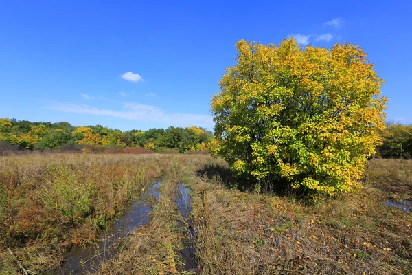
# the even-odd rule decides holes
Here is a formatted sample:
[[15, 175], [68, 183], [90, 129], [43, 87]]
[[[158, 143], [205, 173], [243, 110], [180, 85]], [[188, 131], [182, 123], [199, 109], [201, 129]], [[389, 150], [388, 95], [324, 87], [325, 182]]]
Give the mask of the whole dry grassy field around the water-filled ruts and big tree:
[[[57, 267], [148, 185], [160, 197], [100, 274], [412, 274], [412, 162], [373, 159], [363, 189], [316, 203], [256, 194], [207, 155], [0, 157], [0, 274]], [[176, 201], [191, 190], [192, 213]]]

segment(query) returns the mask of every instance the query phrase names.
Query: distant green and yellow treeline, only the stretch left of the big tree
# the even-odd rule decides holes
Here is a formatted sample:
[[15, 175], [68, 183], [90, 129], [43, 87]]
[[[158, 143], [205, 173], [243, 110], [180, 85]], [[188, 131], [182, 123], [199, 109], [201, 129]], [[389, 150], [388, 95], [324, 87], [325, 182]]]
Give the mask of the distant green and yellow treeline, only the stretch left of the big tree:
[[163, 148], [180, 153], [203, 151], [213, 134], [206, 129], [187, 128], [149, 129], [148, 131], [120, 131], [107, 127], [72, 126], [68, 122], [30, 122], [0, 118], [0, 142], [30, 150], [56, 149], [67, 144], [116, 147], [145, 147], [153, 151]]

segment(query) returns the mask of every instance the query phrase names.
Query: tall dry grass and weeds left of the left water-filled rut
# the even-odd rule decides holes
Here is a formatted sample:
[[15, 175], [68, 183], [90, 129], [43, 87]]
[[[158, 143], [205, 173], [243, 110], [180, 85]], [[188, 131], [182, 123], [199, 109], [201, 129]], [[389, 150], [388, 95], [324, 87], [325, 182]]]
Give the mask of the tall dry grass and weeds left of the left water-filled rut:
[[[73, 245], [93, 242], [141, 188], [171, 164], [196, 156], [32, 154], [0, 157], [0, 273], [60, 265]], [[195, 161], [196, 162], [196, 161]], [[177, 166], [176, 166], [177, 168]], [[173, 172], [174, 173], [174, 172]], [[176, 172], [177, 173], [177, 172]]]

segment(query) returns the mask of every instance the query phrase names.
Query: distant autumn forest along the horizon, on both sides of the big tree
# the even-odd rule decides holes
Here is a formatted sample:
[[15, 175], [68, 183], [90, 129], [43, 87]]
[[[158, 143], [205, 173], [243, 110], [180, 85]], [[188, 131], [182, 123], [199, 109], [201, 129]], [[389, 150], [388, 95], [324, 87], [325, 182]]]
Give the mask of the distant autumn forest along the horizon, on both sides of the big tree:
[[[376, 157], [412, 159], [412, 124], [387, 122], [382, 132], [382, 145]], [[213, 133], [201, 127], [173, 127], [148, 131], [120, 131], [107, 127], [71, 126], [68, 122], [30, 122], [0, 118], [1, 146], [21, 149], [50, 150], [70, 146], [144, 147], [152, 151], [205, 151]]]

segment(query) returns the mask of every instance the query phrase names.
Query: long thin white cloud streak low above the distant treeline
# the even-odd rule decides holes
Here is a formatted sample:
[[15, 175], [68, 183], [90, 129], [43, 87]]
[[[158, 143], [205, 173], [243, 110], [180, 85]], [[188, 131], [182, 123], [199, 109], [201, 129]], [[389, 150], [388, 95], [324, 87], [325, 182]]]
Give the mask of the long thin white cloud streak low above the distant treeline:
[[193, 113], [168, 113], [155, 106], [137, 102], [124, 103], [122, 110], [100, 109], [86, 104], [71, 104], [58, 102], [47, 109], [68, 113], [81, 113], [90, 115], [104, 115], [126, 120], [140, 120], [143, 122], [158, 122], [167, 126], [201, 126], [213, 128], [214, 123], [210, 115]]

